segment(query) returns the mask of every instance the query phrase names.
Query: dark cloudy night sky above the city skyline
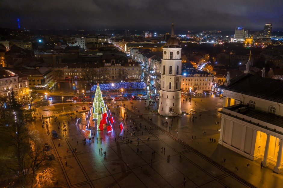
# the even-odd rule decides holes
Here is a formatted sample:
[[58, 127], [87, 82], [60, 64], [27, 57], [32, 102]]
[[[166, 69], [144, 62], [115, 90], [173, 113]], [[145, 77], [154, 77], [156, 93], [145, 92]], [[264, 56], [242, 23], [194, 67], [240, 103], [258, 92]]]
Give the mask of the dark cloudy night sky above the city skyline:
[[1, 0], [0, 27], [283, 30], [282, 0]]

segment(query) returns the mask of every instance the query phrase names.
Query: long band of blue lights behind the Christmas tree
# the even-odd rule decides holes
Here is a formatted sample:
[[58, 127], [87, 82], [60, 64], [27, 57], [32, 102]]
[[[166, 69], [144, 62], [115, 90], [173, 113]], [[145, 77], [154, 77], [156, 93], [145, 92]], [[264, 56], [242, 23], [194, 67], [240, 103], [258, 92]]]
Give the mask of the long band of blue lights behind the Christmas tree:
[[[97, 87], [97, 84], [92, 86], [90, 89], [91, 91], [95, 91]], [[100, 90], [111, 90], [111, 89], [143, 89], [146, 87], [146, 84], [144, 82], [119, 82], [114, 83], [112, 86], [112, 83], [104, 83], [99, 84]]]

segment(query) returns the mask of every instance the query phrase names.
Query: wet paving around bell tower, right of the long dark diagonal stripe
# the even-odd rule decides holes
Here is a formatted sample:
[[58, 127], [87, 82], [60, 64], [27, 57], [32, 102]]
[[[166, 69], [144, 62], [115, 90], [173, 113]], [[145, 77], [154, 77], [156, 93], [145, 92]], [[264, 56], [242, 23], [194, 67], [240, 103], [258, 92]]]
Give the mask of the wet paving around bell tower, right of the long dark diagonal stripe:
[[[201, 99], [202, 102], [200, 101]], [[246, 159], [243, 156], [218, 144], [218, 138], [220, 135], [218, 129], [220, 128], [220, 125], [216, 125], [214, 122], [220, 122], [220, 114], [218, 113], [219, 109], [212, 110], [213, 105], [211, 104], [213, 103], [208, 103], [210, 100], [214, 101], [213, 103], [216, 104], [216, 108], [217, 104], [222, 105], [222, 100], [219, 98], [193, 98], [192, 105], [190, 105], [189, 102], [182, 104], [182, 110], [185, 109], [187, 112], [194, 111], [194, 116], [197, 117], [197, 120], [195, 120], [194, 123], [192, 122], [192, 115], [183, 116], [181, 118], [176, 117], [172, 121], [172, 117], [167, 117], [167, 119], [166, 117], [161, 118], [161, 116], [145, 110], [145, 108], [143, 108], [145, 106], [144, 101], [133, 101], [133, 105], [138, 107], [137, 110], [141, 111], [141, 114], [143, 114], [143, 118], [145, 118], [145, 120], [147, 120], [147, 117], [149, 117], [149, 119], [152, 118], [152, 122], [163, 130], [166, 130], [166, 127], [162, 125], [162, 120], [167, 121], [168, 127], [173, 126], [171, 131], [169, 131], [169, 128], [167, 128], [166, 131], [168, 133], [179, 140], [184, 141], [192, 148], [203, 153], [205, 156], [209, 157], [219, 165], [222, 165], [230, 171], [237, 173], [239, 177], [249, 181], [253, 185], [257, 187], [271, 187], [271, 185], [273, 185], [272, 187], [276, 187], [278, 186], [277, 182], [283, 182], [283, 176], [281, 174], [273, 173], [272, 165], [270, 165], [268, 168], [261, 169], [260, 159], [256, 161], [250, 161], [249, 159]], [[196, 102], [196, 105], [194, 105], [194, 102]], [[131, 107], [131, 104], [129, 103], [123, 103], [126, 104], [128, 108]], [[207, 106], [206, 104], [210, 105]], [[135, 110], [136, 113], [137, 110]], [[200, 113], [201, 117], [199, 116]], [[176, 129], [178, 130], [178, 133], [175, 131]], [[204, 131], [206, 131], [206, 135], [203, 134]], [[194, 139], [194, 136], [196, 136], [196, 139]], [[210, 142], [210, 138], [216, 139], [216, 142]], [[225, 163], [221, 162], [224, 158], [226, 159]], [[247, 168], [247, 163], [250, 163], [250, 168]], [[235, 170], [236, 166], [239, 168], [238, 172]]]

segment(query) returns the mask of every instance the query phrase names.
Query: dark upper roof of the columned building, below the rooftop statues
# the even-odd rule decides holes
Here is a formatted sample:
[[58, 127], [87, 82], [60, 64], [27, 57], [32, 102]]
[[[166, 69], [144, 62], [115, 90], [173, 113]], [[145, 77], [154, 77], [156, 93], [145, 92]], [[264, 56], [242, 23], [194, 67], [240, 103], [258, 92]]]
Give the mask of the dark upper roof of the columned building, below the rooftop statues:
[[232, 79], [228, 86], [222, 85], [219, 89], [283, 104], [283, 81], [281, 80], [256, 77], [252, 74], [242, 74]]

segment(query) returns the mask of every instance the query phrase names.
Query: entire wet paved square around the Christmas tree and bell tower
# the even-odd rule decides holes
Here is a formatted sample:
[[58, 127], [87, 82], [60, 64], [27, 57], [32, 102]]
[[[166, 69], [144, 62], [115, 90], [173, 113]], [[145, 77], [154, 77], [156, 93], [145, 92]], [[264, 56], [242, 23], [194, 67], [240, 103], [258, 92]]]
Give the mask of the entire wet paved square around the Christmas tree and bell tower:
[[[168, 125], [173, 124], [173, 130], [170, 132], [161, 123], [161, 118], [165, 121], [166, 117], [145, 110], [144, 101], [133, 102], [133, 105], [141, 110], [143, 118], [137, 117], [137, 110], [133, 112], [129, 101], [123, 103], [128, 106], [127, 115], [131, 116], [131, 119], [134, 118], [138, 129], [138, 125], [142, 123], [142, 129], [132, 136], [132, 129], [129, 127], [132, 121], [130, 122], [129, 117], [124, 125], [124, 129], [129, 129], [131, 132], [126, 135], [129, 140], [133, 140], [133, 144], [126, 143], [123, 139], [119, 140], [119, 135], [122, 138], [126, 135], [118, 126], [120, 123], [118, 108], [110, 108], [111, 112], [116, 113], [117, 123], [113, 127], [113, 132], [92, 131], [95, 132], [95, 141], [89, 143], [87, 139], [86, 146], [82, 144], [84, 137], [80, 126], [75, 125], [70, 117], [58, 117], [61, 125], [62, 122], [72, 122], [66, 134], [58, 131], [58, 121], [54, 121], [53, 118], [50, 119], [51, 125], [48, 129], [46, 127], [42, 129], [41, 121], [39, 118], [36, 119], [32, 128], [38, 129], [43, 143], [52, 144], [52, 152], [57, 156], [54, 168], [58, 171], [58, 187], [178, 187], [183, 183], [184, 177], [185, 186], [188, 187], [252, 187], [253, 185], [280, 187], [282, 185], [282, 175], [273, 173], [270, 169], [272, 167], [260, 169], [259, 161], [252, 162], [217, 143], [219, 125], [215, 125], [214, 122], [220, 122], [220, 115], [217, 112], [222, 106], [220, 98], [193, 98], [191, 105], [189, 102], [182, 103], [182, 110], [194, 111], [197, 120], [192, 123], [190, 115], [180, 117], [179, 120], [175, 118], [173, 122], [168, 118]], [[44, 108], [52, 108], [51, 106]], [[201, 118], [198, 113], [202, 114]], [[76, 115], [82, 119], [85, 117], [84, 113]], [[147, 116], [149, 119], [152, 118], [152, 122], [147, 120]], [[149, 130], [150, 126], [153, 129]], [[52, 129], [58, 131], [58, 139], [52, 139], [48, 134]], [[178, 134], [175, 129], [178, 129]], [[207, 132], [206, 135], [203, 135], [203, 131]], [[196, 136], [196, 139], [192, 140], [191, 136]], [[97, 138], [99, 138], [98, 142]], [[115, 143], [115, 138], [119, 140], [118, 143]], [[138, 146], [137, 138], [140, 138]], [[209, 142], [209, 138], [216, 138], [216, 143]], [[61, 147], [58, 147], [58, 143]], [[161, 152], [161, 147], [166, 148], [165, 152], [164, 150]], [[72, 151], [67, 153], [67, 148], [70, 150], [76, 148], [77, 153]], [[106, 151], [106, 157], [99, 153], [99, 148]], [[153, 151], [155, 151], [154, 155], [152, 155]], [[170, 155], [169, 162], [167, 162], [168, 155]], [[225, 164], [221, 162], [223, 158], [226, 158]], [[67, 166], [64, 164], [65, 161], [68, 162]], [[247, 163], [250, 163], [250, 168], [246, 167]], [[238, 166], [238, 172], [235, 171], [235, 166]]]

